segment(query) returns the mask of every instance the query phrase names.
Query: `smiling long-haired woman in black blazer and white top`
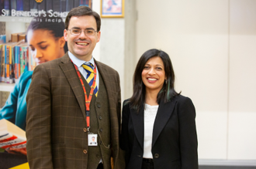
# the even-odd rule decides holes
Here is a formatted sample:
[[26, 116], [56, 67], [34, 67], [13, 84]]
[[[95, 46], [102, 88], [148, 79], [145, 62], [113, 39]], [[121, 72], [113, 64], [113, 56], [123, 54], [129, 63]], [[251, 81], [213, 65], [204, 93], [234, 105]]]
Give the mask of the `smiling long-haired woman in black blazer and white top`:
[[133, 96], [123, 102], [120, 146], [126, 168], [198, 168], [195, 107], [174, 83], [168, 54], [144, 52], [133, 75]]

